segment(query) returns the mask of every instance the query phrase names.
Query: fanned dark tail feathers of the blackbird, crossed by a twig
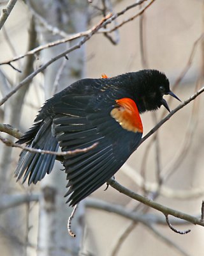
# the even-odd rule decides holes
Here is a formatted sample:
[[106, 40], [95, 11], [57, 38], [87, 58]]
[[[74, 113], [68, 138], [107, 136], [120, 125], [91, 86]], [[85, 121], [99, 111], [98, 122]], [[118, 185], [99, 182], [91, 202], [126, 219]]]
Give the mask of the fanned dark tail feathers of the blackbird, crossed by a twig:
[[[49, 118], [37, 122], [25, 132], [24, 136], [17, 141], [19, 144], [26, 143], [27, 147], [38, 148], [43, 150], [57, 151], [59, 144], [54, 136], [52, 136], [52, 122]], [[46, 173], [50, 173], [54, 166], [54, 155], [38, 154], [23, 150], [15, 169], [15, 177], [19, 180], [22, 175], [25, 182], [27, 177], [28, 184], [32, 182], [36, 184], [38, 180], [43, 179]]]

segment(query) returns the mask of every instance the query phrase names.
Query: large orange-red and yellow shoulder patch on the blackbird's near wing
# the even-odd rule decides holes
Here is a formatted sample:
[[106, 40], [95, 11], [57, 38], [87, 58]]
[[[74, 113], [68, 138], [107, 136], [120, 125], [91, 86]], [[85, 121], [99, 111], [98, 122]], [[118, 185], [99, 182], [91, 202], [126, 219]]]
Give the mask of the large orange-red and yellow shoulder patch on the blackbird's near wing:
[[143, 132], [142, 120], [135, 101], [129, 98], [115, 100], [117, 107], [113, 108], [110, 115], [122, 126], [132, 132]]

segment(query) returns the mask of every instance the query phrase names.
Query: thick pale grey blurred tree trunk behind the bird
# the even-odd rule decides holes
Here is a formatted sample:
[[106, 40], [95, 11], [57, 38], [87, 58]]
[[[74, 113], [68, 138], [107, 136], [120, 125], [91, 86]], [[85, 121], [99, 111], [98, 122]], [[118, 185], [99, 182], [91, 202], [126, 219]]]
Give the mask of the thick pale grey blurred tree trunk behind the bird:
[[[66, 33], [77, 33], [87, 29], [86, 1], [32, 1], [34, 12], [38, 13], [51, 26], [55, 26]], [[36, 19], [38, 20], [38, 19]], [[40, 44], [45, 44], [61, 38], [52, 35], [45, 28], [45, 24], [38, 23]], [[76, 41], [74, 42], [76, 44]], [[73, 43], [72, 43], [73, 44]], [[65, 51], [70, 44], [63, 44], [43, 51], [40, 58], [44, 63], [59, 52]], [[45, 99], [53, 93], [59, 92], [69, 84], [84, 77], [85, 48], [71, 52], [69, 60], [55, 61], [45, 70]], [[60, 77], [59, 85], [54, 86], [56, 76]], [[38, 233], [38, 255], [78, 255], [83, 232], [84, 205], [78, 207], [78, 214], [73, 221], [73, 230], [77, 237], [68, 235], [67, 222], [73, 208], [65, 204], [66, 175], [61, 172], [61, 163], [55, 163], [54, 170], [41, 181], [40, 220]]]

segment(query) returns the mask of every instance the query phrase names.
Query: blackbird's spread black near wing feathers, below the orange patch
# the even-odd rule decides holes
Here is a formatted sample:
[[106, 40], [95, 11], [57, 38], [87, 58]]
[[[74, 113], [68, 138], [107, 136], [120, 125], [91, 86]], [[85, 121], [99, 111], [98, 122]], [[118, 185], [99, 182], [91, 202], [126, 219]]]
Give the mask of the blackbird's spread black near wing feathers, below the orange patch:
[[[111, 95], [112, 96], [112, 95]], [[53, 129], [62, 151], [98, 145], [85, 153], [64, 157], [68, 201], [75, 205], [112, 177], [135, 150], [142, 132], [127, 131], [111, 115], [115, 100], [65, 95], [55, 104]]]

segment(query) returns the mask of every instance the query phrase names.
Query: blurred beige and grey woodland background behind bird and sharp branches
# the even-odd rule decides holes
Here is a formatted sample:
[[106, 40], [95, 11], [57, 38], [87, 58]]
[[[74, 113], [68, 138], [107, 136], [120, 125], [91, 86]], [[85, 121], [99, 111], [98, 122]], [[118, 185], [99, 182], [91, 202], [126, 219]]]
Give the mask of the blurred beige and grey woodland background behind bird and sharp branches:
[[[1, 12], [8, 2], [12, 1], [0, 1]], [[136, 2], [141, 4], [131, 8]], [[17, 1], [0, 31], [1, 99], [43, 68], [0, 107], [1, 124], [25, 132], [46, 99], [78, 79], [103, 73], [112, 77], [144, 68], [161, 70], [170, 79], [172, 91], [186, 100], [203, 86], [203, 7], [201, 0]], [[108, 13], [120, 15], [90, 38], [85, 37]], [[75, 39], [70, 40], [71, 36]], [[68, 52], [67, 58], [57, 57], [48, 67], [43, 66], [80, 45], [83, 38], [87, 42]], [[22, 58], [11, 62], [20, 55]], [[179, 104], [168, 96], [165, 99], [170, 109]], [[200, 218], [203, 106], [200, 95], [180, 109], [129, 157], [115, 179], [136, 193]], [[167, 114], [164, 108], [143, 114], [144, 134]], [[16, 140], [4, 132], [1, 136]], [[62, 164], [56, 161], [50, 175], [28, 187], [13, 177], [20, 149], [0, 143], [0, 150], [1, 255], [203, 255], [203, 227], [177, 220], [173, 226], [178, 230], [191, 229], [188, 234], [177, 234], [161, 212], [110, 186], [104, 191], [106, 185], [78, 206], [72, 226], [77, 237], [73, 239], [67, 231], [72, 209], [63, 197], [66, 175], [59, 171]], [[132, 212], [152, 221], [144, 225], [125, 218], [116, 210], [119, 205], [123, 215]], [[175, 220], [170, 218], [172, 223]]]

